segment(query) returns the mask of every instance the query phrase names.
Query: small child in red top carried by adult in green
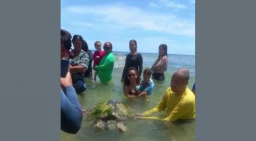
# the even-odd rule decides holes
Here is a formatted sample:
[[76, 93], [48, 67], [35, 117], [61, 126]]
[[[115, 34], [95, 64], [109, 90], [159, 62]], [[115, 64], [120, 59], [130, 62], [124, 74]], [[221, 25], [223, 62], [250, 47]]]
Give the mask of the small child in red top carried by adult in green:
[[[93, 53], [93, 70], [95, 70], [95, 66], [99, 65], [100, 60], [104, 57], [105, 51], [101, 50], [101, 43], [100, 41], [96, 41], [94, 43], [96, 51]], [[94, 81], [96, 81], [96, 76], [98, 74], [98, 71], [95, 70], [94, 73]]]

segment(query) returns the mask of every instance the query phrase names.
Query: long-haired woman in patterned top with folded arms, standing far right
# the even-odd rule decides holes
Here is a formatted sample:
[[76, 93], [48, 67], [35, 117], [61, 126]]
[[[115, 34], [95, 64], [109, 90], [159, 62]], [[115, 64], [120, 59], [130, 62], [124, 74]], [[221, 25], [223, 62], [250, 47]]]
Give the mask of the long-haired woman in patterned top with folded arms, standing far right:
[[151, 70], [153, 71], [152, 78], [158, 81], [165, 80], [165, 71], [167, 70], [167, 45], [159, 45], [159, 56], [156, 62], [152, 65]]

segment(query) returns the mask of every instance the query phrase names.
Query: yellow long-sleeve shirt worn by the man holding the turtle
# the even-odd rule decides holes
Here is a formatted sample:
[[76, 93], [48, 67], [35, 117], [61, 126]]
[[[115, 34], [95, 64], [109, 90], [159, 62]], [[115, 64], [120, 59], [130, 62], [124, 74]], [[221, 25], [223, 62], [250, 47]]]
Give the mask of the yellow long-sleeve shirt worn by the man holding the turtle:
[[[154, 112], [166, 109], [165, 117], [145, 117]], [[182, 95], [175, 96], [171, 87], [167, 88], [161, 102], [152, 110], [143, 113], [143, 119], [155, 119], [164, 121], [175, 121], [177, 119], [195, 119], [196, 98], [193, 92], [187, 87]]]

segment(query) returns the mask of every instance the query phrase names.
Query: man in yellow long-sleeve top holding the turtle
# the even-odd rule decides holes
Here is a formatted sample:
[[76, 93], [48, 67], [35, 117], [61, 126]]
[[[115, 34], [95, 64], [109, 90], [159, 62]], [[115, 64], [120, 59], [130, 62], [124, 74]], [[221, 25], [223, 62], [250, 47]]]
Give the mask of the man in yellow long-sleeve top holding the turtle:
[[[195, 95], [187, 87], [189, 70], [179, 68], [172, 75], [171, 87], [167, 88], [161, 102], [152, 110], [136, 114], [135, 119], [155, 119], [162, 121], [176, 121], [178, 119], [195, 119]], [[165, 110], [165, 117], [147, 117], [148, 115]]]

